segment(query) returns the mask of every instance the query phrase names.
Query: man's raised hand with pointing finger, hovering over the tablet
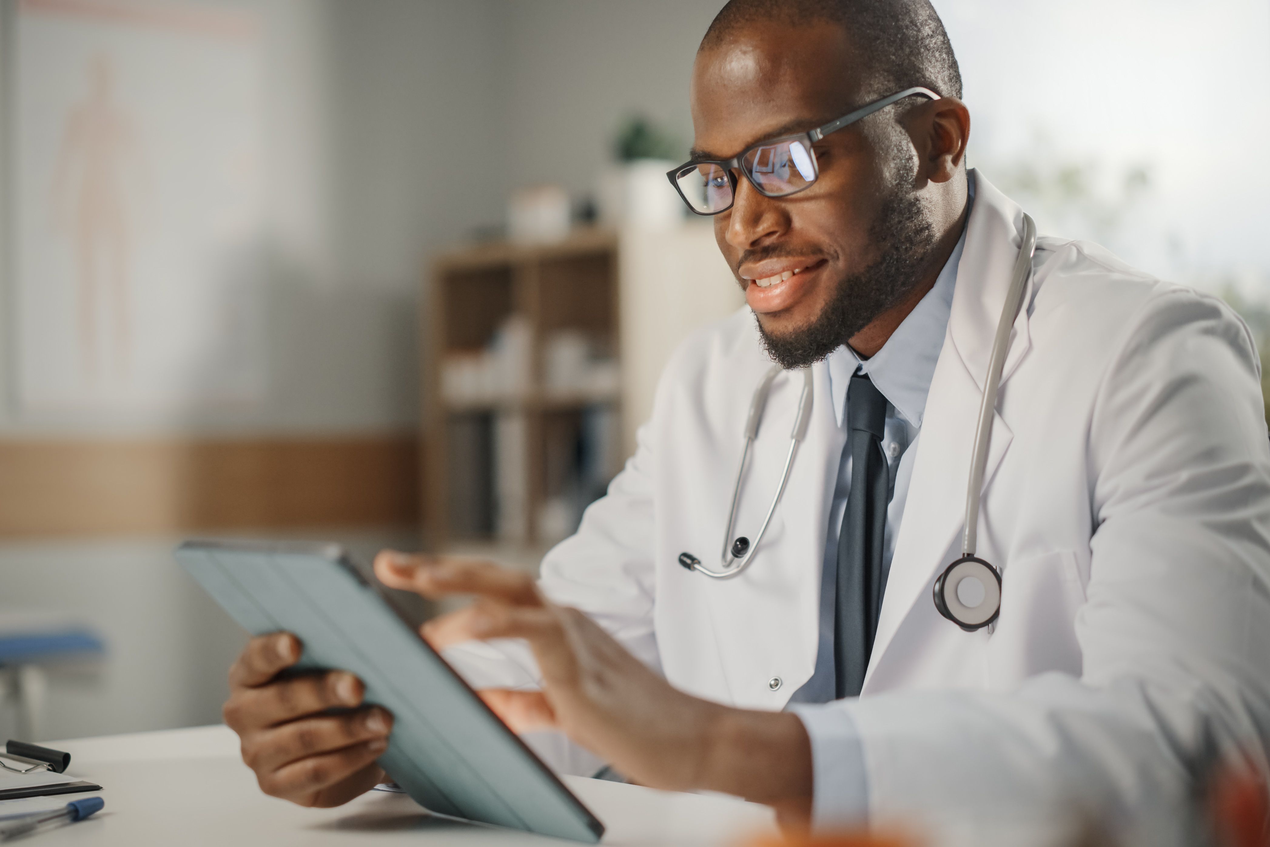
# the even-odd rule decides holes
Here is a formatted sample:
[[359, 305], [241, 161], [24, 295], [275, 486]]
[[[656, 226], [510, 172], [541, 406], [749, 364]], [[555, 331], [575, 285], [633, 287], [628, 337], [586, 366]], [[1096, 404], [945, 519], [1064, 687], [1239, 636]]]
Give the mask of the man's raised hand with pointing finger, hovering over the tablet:
[[437, 649], [472, 639], [528, 641], [542, 690], [481, 692], [513, 729], [560, 729], [643, 785], [726, 791], [786, 815], [809, 813], [810, 742], [795, 715], [730, 709], [677, 691], [584, 613], [551, 603], [528, 574], [392, 551], [376, 557], [375, 573], [424, 597], [476, 597], [424, 625]]

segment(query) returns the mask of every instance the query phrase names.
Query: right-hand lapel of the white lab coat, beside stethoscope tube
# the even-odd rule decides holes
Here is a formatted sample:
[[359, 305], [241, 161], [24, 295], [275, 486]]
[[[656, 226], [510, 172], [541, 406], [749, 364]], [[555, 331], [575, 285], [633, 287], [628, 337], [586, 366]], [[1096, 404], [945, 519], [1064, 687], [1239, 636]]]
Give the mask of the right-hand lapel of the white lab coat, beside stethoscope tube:
[[[975, 202], [958, 265], [949, 329], [926, 400], [908, 502], [864, 691], [869, 691], [874, 670], [885, 660], [886, 648], [913, 604], [931, 602], [931, 579], [937, 569], [949, 564], [946, 554], [964, 526], [965, 484], [970, 475], [970, 453], [992, 338], [1010, 287], [1022, 229], [1022, 210], [978, 174], [975, 179]], [[1030, 347], [1030, 300], [1029, 281], [1024, 307], [1011, 333], [1002, 383]], [[1011, 439], [1010, 428], [997, 414], [983, 476], [984, 488], [991, 484]]]

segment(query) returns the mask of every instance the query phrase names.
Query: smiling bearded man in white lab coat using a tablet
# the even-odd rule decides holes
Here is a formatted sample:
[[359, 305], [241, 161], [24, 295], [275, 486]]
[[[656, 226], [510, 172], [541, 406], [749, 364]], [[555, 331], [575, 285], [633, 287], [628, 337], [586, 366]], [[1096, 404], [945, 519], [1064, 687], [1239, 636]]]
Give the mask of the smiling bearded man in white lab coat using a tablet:
[[[930, 94], [815, 141], [798, 193], [754, 164], [914, 86]], [[540, 583], [376, 561], [389, 585], [478, 596], [424, 634], [513, 728], [564, 730], [645, 785], [823, 827], [1167, 810], [1214, 756], [1265, 772], [1270, 451], [1253, 344], [1214, 298], [1040, 239], [978, 524], [999, 618], [965, 632], [931, 602], [960, 549], [1022, 244], [1021, 210], [965, 165], [960, 88], [927, 0], [719, 13], [693, 67], [693, 161], [723, 163], [705, 211], [749, 310], [678, 350], [636, 455]], [[719, 549], [772, 361], [810, 367], [806, 437], [753, 565], [709, 579], [678, 556]], [[801, 383], [773, 382], [738, 527], [777, 488]], [[226, 723], [265, 791], [343, 803], [382, 778], [391, 716], [320, 714], [358, 706], [359, 683], [278, 681], [298, 650], [254, 640]]]

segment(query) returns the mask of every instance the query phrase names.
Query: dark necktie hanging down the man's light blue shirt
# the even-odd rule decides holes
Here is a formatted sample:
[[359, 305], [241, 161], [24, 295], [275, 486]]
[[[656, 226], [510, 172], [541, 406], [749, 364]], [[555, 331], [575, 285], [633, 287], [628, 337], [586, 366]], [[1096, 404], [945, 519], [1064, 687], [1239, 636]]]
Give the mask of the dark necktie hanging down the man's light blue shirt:
[[881, 554], [886, 503], [890, 499], [890, 470], [881, 447], [885, 425], [886, 397], [867, 375], [855, 375], [847, 389], [851, 490], [838, 532], [838, 603], [833, 639], [838, 698], [860, 693], [885, 589]]

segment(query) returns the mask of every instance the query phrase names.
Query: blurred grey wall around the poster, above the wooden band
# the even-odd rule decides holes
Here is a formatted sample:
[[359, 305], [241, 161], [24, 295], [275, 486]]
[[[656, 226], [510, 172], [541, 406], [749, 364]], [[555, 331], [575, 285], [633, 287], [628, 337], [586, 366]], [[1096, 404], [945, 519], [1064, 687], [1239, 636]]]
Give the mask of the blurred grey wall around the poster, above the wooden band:
[[[498, 4], [208, 5], [250, 9], [264, 24], [267, 397], [175, 419], [32, 415], [6, 403], [0, 433], [293, 434], [418, 419], [414, 307], [427, 259], [502, 217]], [[11, 38], [17, 4], [4, 9]], [[11, 378], [11, 356], [0, 348], [0, 380]]]

